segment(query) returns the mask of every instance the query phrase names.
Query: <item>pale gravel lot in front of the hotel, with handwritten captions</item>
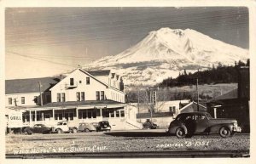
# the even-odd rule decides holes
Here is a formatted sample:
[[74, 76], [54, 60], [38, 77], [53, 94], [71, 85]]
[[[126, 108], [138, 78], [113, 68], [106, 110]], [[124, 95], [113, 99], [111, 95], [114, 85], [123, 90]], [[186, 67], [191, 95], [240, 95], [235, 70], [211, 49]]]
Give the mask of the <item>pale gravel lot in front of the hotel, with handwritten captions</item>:
[[196, 135], [177, 139], [164, 129], [109, 133], [61, 133], [6, 135], [6, 154], [121, 152], [160, 150], [248, 150], [248, 134], [230, 139], [218, 135]]

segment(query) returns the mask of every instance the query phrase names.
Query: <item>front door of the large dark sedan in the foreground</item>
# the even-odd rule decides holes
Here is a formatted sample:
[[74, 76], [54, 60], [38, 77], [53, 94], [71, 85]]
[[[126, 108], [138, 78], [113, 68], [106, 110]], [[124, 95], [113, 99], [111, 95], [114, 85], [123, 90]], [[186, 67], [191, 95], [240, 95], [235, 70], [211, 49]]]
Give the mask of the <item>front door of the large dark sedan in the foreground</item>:
[[208, 119], [204, 114], [195, 114], [193, 116], [195, 120], [195, 133], [204, 133], [207, 132]]

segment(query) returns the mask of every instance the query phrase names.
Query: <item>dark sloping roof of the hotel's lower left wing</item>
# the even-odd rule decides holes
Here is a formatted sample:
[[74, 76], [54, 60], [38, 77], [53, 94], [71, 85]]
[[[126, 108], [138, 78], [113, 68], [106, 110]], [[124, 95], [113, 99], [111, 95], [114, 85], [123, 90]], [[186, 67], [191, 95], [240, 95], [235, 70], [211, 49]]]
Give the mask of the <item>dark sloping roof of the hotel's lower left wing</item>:
[[57, 77], [6, 80], [5, 93], [39, 93], [38, 82], [41, 82], [41, 91], [46, 92], [60, 81]]

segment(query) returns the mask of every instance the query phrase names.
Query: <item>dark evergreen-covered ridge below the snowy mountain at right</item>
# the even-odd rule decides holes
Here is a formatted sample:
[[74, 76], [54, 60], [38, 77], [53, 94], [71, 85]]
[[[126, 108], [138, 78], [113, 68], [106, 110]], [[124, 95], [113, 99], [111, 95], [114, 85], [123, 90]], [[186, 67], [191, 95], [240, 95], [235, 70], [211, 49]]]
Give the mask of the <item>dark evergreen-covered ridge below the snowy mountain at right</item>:
[[166, 87], [181, 87], [187, 85], [195, 85], [196, 78], [199, 80], [199, 84], [216, 84], [216, 83], [236, 83], [237, 82], [237, 68], [240, 66], [249, 65], [249, 59], [247, 63], [241, 62], [239, 60], [233, 66], [221, 65], [220, 63], [215, 68], [206, 71], [196, 71], [195, 73], [187, 73], [186, 70], [179, 73], [177, 78], [169, 77], [163, 82], [160, 82], [158, 86], [160, 88]]

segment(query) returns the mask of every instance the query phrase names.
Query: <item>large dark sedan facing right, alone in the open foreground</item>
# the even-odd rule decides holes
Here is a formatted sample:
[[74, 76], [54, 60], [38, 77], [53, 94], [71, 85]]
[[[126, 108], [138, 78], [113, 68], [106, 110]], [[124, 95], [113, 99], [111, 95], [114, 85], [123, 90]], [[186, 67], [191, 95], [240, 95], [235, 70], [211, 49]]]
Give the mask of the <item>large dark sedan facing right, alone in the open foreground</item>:
[[176, 134], [177, 138], [192, 137], [195, 133], [218, 133], [228, 138], [241, 132], [241, 127], [235, 119], [215, 119], [207, 112], [188, 112], [177, 115], [166, 132]]

